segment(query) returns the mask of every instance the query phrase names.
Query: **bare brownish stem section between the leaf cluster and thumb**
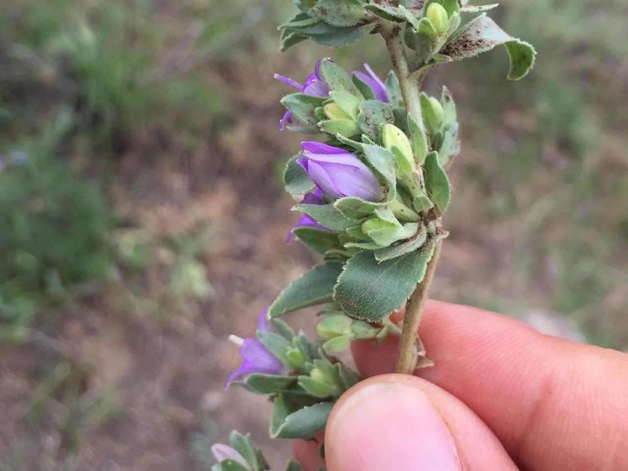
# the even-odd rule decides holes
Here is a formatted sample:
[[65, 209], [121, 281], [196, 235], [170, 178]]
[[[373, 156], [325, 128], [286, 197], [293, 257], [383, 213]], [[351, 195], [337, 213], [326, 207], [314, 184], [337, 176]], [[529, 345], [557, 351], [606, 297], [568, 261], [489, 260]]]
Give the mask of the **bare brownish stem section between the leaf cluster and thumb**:
[[397, 356], [398, 373], [412, 374], [414, 368], [416, 368], [418, 356], [425, 355], [425, 348], [423, 348], [423, 343], [416, 330], [419, 327], [423, 309], [428, 300], [428, 292], [430, 292], [430, 285], [436, 271], [436, 263], [438, 263], [442, 242], [442, 240], [436, 242], [434, 253], [425, 271], [425, 277], [423, 277], [423, 281], [416, 285], [416, 289], [414, 289], [406, 303], [406, 314], [403, 318], [403, 328]]

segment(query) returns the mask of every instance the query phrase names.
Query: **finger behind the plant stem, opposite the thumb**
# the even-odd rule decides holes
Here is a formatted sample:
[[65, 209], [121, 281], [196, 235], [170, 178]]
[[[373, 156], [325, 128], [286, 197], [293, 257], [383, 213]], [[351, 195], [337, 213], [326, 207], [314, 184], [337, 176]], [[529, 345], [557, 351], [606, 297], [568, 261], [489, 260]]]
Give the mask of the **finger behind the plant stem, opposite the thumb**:
[[[437, 301], [420, 335], [435, 366], [415, 374], [467, 404], [521, 469], [628, 469], [628, 355]], [[397, 346], [352, 345], [360, 372], [394, 371]]]

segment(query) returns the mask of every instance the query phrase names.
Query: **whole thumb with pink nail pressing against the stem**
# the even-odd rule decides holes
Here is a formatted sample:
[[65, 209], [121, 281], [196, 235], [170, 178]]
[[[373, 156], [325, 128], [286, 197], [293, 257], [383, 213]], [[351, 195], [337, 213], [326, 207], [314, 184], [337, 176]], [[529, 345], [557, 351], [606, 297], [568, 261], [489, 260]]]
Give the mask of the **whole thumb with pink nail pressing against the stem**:
[[329, 471], [514, 471], [489, 428], [426, 380], [387, 374], [355, 385], [325, 431]]

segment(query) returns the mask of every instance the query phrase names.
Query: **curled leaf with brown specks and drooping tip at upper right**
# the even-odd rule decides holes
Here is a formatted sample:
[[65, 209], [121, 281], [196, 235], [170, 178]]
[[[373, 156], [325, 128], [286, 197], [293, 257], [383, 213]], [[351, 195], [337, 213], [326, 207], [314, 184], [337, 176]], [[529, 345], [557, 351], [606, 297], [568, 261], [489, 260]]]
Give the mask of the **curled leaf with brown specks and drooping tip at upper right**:
[[476, 21], [457, 41], [448, 45], [441, 53], [452, 60], [462, 60], [490, 51], [497, 45], [506, 46], [511, 60], [508, 79], [518, 80], [528, 74], [534, 65], [536, 55], [532, 45], [507, 35], [495, 21], [487, 16]]

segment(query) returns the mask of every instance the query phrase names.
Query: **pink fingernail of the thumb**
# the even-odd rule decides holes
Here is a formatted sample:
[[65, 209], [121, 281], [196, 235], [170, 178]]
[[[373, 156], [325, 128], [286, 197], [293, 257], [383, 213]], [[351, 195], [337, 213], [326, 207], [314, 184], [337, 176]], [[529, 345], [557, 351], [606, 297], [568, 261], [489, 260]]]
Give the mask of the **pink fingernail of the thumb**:
[[333, 414], [330, 471], [460, 471], [452, 434], [430, 399], [396, 382], [364, 386]]

